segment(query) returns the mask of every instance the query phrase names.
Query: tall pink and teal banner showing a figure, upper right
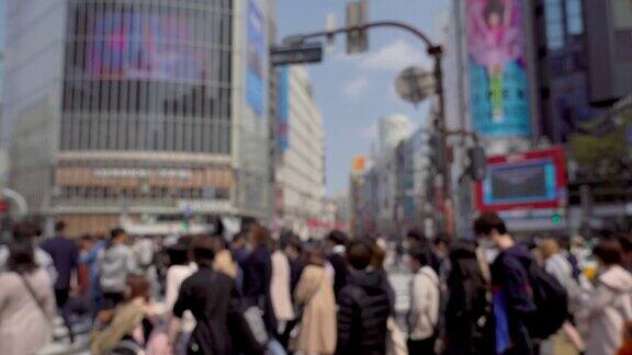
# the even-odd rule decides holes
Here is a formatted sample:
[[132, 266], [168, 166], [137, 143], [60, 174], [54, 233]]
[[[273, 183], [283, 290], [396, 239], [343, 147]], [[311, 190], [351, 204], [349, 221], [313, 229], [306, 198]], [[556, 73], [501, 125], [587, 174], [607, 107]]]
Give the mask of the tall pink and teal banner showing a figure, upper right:
[[531, 135], [522, 0], [465, 0], [472, 128]]

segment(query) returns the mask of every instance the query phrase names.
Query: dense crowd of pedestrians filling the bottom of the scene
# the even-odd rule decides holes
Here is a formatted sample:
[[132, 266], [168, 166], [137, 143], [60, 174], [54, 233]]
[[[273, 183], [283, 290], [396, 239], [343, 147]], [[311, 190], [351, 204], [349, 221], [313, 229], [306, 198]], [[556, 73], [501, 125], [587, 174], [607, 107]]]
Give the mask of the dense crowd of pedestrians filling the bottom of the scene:
[[390, 263], [410, 275], [398, 313], [380, 239], [303, 241], [258, 222], [70, 239], [63, 221], [42, 239], [19, 224], [0, 247], [0, 354], [35, 354], [57, 316], [71, 342], [90, 322], [92, 354], [632, 354], [630, 236], [586, 253], [577, 238], [522, 243], [494, 213], [473, 230], [406, 233]]

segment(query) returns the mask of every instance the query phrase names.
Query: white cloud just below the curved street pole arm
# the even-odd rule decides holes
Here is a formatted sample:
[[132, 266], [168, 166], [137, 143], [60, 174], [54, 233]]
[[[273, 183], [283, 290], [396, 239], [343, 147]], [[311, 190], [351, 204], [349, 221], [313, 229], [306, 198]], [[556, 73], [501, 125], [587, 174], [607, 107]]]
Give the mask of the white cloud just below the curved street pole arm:
[[397, 39], [376, 51], [369, 53], [360, 61], [364, 69], [397, 70], [407, 66], [422, 66], [428, 62], [422, 46], [415, 47], [408, 42]]

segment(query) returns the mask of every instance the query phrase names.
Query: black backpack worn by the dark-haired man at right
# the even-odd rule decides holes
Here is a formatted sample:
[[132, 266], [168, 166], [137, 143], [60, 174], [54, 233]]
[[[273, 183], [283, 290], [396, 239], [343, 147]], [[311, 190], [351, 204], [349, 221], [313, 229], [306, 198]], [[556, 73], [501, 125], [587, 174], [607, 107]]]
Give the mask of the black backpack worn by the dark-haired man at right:
[[545, 340], [557, 333], [568, 319], [568, 295], [566, 289], [537, 262], [524, 265], [535, 311], [529, 320], [529, 333], [533, 339]]

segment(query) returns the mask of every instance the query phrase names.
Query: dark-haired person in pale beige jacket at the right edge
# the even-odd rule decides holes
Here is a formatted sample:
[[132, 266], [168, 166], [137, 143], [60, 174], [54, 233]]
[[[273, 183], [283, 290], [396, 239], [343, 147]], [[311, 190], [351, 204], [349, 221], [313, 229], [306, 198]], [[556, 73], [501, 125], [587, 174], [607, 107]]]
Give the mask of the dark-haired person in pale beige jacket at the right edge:
[[586, 354], [614, 354], [622, 345], [624, 323], [632, 320], [632, 275], [621, 265], [616, 240], [601, 241], [592, 255], [599, 262], [596, 286], [582, 299], [589, 324]]

